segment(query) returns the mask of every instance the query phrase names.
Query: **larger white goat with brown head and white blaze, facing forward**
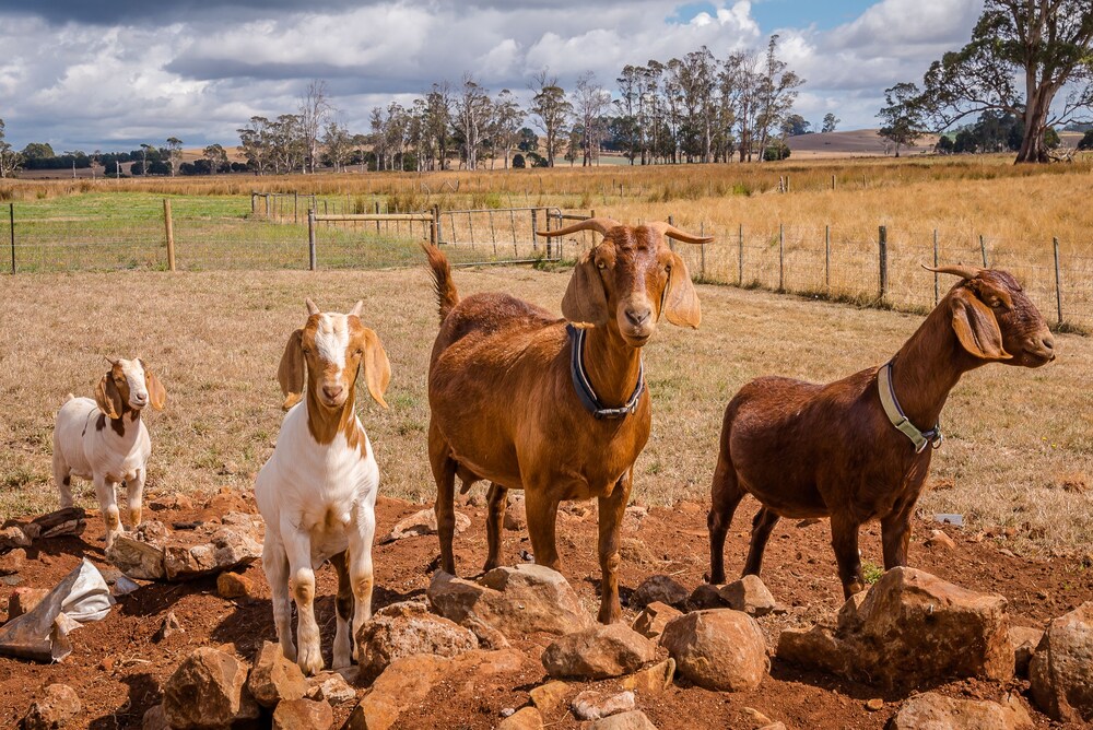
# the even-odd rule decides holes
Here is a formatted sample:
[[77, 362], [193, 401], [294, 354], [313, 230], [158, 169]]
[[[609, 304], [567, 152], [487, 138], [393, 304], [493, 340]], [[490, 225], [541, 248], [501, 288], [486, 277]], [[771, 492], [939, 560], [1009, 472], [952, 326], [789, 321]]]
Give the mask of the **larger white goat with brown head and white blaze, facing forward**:
[[[307, 323], [289, 338], [278, 368], [284, 408], [291, 410], [255, 484], [266, 520], [262, 568], [273, 593], [278, 639], [285, 657], [308, 674], [322, 670], [315, 570], [325, 561], [338, 572], [334, 667], [360, 658], [353, 639], [372, 616], [379, 468], [354, 412], [354, 386], [363, 365], [368, 392], [387, 408], [384, 391], [391, 366], [379, 338], [361, 323], [363, 307], [357, 302], [348, 315], [320, 313], [307, 299]], [[298, 656], [291, 634], [290, 591], [298, 613]]]

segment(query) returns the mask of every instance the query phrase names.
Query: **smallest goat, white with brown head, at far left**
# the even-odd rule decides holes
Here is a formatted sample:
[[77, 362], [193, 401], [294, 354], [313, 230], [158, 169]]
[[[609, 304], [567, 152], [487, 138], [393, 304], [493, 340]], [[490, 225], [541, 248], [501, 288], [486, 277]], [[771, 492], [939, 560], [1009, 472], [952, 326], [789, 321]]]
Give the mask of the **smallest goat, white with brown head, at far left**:
[[72, 506], [72, 476], [95, 484], [106, 520], [106, 548], [121, 533], [115, 490], [126, 483], [129, 519], [140, 525], [145, 464], [152, 452], [141, 410], [162, 411], [167, 391], [143, 360], [111, 360], [110, 369], [95, 388], [95, 399], [69, 393], [54, 427], [54, 479], [61, 508]]

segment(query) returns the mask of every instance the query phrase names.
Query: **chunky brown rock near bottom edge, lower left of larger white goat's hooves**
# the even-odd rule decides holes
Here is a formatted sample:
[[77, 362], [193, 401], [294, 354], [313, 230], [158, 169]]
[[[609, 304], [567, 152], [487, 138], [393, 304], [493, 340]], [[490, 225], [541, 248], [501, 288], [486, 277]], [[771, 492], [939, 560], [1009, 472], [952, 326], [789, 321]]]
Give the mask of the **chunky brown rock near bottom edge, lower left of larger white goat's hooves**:
[[167, 722], [174, 730], [197, 730], [256, 719], [258, 704], [246, 681], [247, 666], [234, 656], [211, 647], [195, 650], [164, 686]]

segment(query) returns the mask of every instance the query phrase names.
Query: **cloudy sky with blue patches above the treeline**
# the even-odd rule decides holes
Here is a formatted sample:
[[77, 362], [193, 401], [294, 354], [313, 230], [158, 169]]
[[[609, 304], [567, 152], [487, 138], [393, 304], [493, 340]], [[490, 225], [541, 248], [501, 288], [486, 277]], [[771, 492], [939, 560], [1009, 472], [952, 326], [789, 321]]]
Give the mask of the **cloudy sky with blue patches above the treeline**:
[[797, 109], [875, 127], [883, 90], [920, 81], [968, 39], [982, 0], [0, 0], [0, 119], [16, 149], [237, 144], [254, 115], [295, 111], [327, 81], [353, 132], [391, 99], [471, 72], [526, 95], [549, 67], [608, 87], [626, 63], [706, 45], [720, 59], [772, 33], [807, 80]]

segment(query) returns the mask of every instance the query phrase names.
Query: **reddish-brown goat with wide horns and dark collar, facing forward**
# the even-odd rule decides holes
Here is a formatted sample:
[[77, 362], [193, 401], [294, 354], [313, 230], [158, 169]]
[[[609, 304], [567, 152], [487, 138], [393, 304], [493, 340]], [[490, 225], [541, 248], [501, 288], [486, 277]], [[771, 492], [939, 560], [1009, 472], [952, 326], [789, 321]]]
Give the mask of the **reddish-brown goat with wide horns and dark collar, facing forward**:
[[[436, 480], [440, 567], [455, 574], [455, 478], [489, 492], [485, 569], [497, 566], [508, 490], [524, 490], [536, 563], [559, 569], [557, 506], [599, 498], [599, 620], [618, 621], [619, 545], [634, 461], [653, 408], [642, 346], [661, 317], [696, 328], [698, 298], [665, 236], [697, 244], [667, 223], [624, 226], [591, 219], [540, 235], [596, 231], [603, 240], [577, 263], [564, 319], [507, 294], [460, 301], [439, 249], [425, 247], [440, 330], [428, 368], [428, 458]], [[566, 320], [573, 322], [567, 325]]]

